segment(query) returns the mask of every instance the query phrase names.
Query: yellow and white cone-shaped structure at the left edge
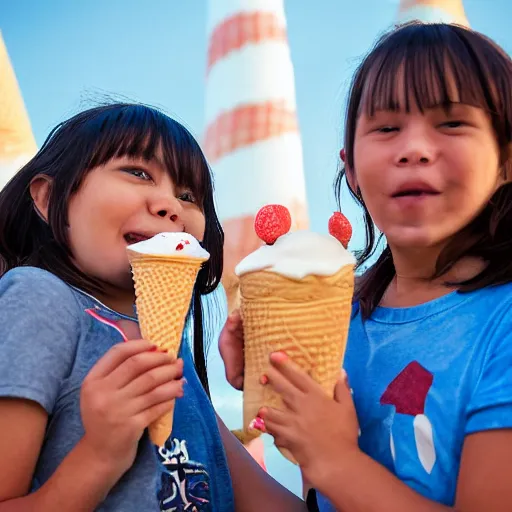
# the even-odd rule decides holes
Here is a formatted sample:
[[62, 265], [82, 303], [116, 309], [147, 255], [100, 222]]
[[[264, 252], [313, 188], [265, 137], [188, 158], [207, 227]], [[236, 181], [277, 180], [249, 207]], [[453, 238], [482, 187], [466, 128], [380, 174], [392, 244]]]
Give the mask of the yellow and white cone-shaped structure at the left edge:
[[0, 33], [0, 189], [36, 150], [27, 111]]

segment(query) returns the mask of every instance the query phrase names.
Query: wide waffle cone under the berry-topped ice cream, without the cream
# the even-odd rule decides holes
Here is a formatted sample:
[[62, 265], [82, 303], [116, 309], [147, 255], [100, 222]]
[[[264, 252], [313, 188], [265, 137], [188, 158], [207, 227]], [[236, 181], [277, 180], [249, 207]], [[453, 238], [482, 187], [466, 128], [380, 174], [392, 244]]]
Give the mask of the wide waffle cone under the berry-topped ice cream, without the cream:
[[[246, 431], [261, 407], [283, 408], [279, 395], [260, 383], [272, 352], [286, 352], [333, 396], [345, 355], [353, 291], [352, 265], [332, 276], [291, 279], [258, 271], [240, 277]], [[280, 451], [295, 463], [290, 453]]]

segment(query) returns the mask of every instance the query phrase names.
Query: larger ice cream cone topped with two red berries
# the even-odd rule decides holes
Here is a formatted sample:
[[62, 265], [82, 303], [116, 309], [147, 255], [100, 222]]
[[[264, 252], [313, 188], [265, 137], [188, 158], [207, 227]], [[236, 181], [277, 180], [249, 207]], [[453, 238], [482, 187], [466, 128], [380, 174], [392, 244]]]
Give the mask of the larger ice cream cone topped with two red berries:
[[[330, 232], [344, 242], [348, 225], [335, 214]], [[341, 224], [345, 224], [342, 226]], [[245, 338], [244, 428], [263, 406], [281, 408], [280, 397], [261, 383], [269, 355], [284, 351], [333, 396], [345, 353], [354, 258], [334, 236], [310, 231], [287, 233], [289, 213], [263, 208], [256, 231], [268, 245], [237, 266]], [[293, 462], [286, 451], [283, 455]]]

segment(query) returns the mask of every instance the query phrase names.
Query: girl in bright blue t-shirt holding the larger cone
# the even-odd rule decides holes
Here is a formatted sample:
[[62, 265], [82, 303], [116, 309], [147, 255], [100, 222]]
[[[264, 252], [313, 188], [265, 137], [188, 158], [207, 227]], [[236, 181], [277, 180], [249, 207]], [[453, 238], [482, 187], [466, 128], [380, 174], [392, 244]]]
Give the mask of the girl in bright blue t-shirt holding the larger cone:
[[[374, 226], [386, 243], [356, 287], [334, 399], [273, 354], [262, 382], [285, 405], [260, 411], [266, 430], [321, 511], [512, 510], [510, 57], [459, 26], [395, 29], [356, 71], [344, 146], [359, 266]], [[242, 343], [235, 315], [220, 346], [236, 386]]]

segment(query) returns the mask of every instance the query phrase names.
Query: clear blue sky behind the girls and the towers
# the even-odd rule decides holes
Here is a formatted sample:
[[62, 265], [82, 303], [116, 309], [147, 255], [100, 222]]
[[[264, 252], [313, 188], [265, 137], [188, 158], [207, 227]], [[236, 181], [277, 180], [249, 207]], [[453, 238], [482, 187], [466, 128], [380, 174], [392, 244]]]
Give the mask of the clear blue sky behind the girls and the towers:
[[[390, 27], [396, 0], [287, 0], [288, 35], [312, 229], [327, 230], [332, 181], [353, 69]], [[512, 52], [510, 0], [465, 0], [473, 28]], [[40, 145], [49, 130], [105, 95], [162, 107], [201, 140], [206, 0], [3, 0], [0, 30]], [[356, 243], [358, 212], [348, 207]], [[239, 395], [222, 382], [212, 351], [217, 405], [239, 426]], [[269, 442], [267, 440], [267, 442]], [[268, 466], [299, 491], [298, 472], [275, 451]]]

